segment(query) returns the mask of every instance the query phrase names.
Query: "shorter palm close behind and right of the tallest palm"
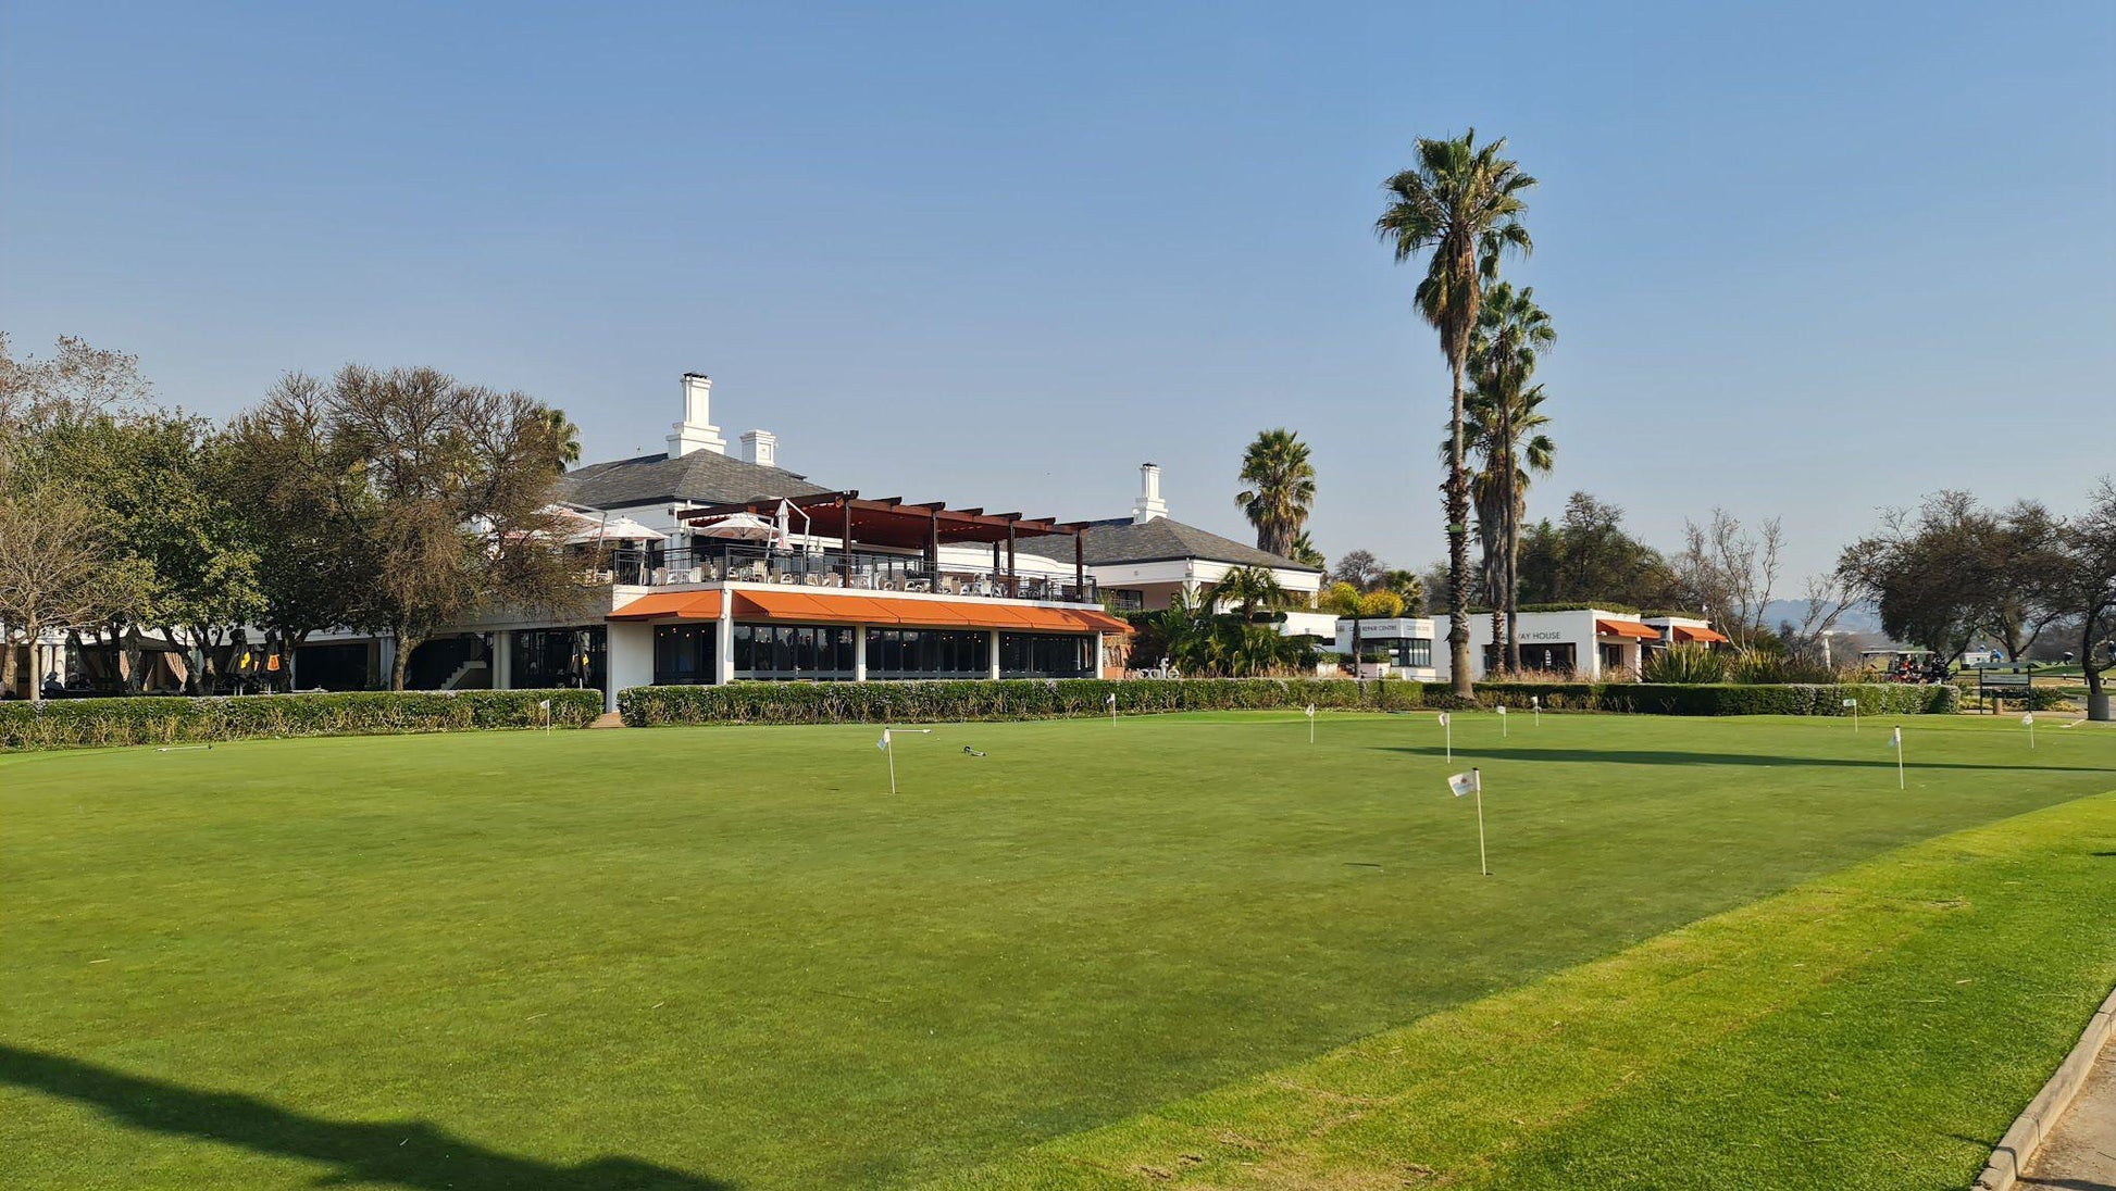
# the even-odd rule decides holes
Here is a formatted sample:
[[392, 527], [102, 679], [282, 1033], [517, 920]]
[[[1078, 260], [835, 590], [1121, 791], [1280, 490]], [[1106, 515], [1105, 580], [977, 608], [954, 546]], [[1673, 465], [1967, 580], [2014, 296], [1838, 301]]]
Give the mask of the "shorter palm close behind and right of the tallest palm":
[[[1500, 643], [1498, 613], [1507, 613], [1504, 666], [1521, 668], [1519, 641], [1519, 561], [1521, 516], [1528, 512], [1532, 474], [1549, 474], [1555, 446], [1540, 427], [1551, 419], [1536, 413], [1543, 385], [1528, 385], [1536, 360], [1557, 343], [1551, 315], [1536, 305], [1534, 286], [1515, 290], [1500, 281], [1485, 296], [1471, 341], [1471, 374], [1475, 391], [1471, 406], [1483, 406], [1473, 417], [1479, 423], [1481, 457], [1477, 527], [1485, 546], [1485, 590], [1492, 599], [1492, 643]], [[1496, 514], [1496, 533], [1485, 529], [1485, 514]], [[1496, 542], [1494, 542], [1496, 539]]]

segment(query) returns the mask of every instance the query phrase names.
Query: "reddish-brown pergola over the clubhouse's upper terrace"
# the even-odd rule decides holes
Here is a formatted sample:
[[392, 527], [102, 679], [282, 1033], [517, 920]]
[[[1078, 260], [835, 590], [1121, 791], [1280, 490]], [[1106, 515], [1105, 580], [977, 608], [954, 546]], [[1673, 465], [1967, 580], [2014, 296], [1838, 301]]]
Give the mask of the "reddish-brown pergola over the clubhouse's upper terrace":
[[[1022, 535], [1073, 537], [1073, 584], [1088, 586], [1088, 558], [1079, 531], [1092, 523], [1056, 520], [1050, 516], [1022, 516], [1018, 512], [984, 512], [982, 508], [948, 508], [946, 501], [912, 503], [904, 497], [870, 499], [857, 491], [810, 493], [804, 497], [768, 497], [738, 503], [719, 503], [681, 514], [686, 525], [698, 525], [747, 512], [772, 518], [785, 508], [800, 516], [810, 531], [834, 533], [844, 544], [842, 573], [846, 586], [853, 582], [853, 544], [884, 546], [895, 550], [920, 550], [929, 569], [940, 569], [940, 548], [969, 542], [992, 546], [992, 573], [1005, 573], [1007, 594], [1016, 594], [1020, 584], [1014, 571], [1016, 542]], [[1001, 565], [1001, 548], [1005, 563]]]

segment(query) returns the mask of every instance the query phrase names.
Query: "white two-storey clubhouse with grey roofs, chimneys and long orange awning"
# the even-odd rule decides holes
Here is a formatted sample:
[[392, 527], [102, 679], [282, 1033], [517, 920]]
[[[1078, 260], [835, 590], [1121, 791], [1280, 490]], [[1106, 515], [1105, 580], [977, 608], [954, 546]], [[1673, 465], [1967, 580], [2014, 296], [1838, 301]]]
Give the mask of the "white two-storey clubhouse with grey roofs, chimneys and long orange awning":
[[[770, 432], [738, 442], [711, 421], [711, 381], [686, 374], [664, 453], [559, 480], [584, 611], [463, 624], [413, 652], [406, 685], [599, 688], [614, 709], [633, 685], [1121, 675], [1130, 626], [1105, 601], [1166, 607], [1234, 567], [1297, 594], [1322, 580], [1168, 518], [1151, 463], [1132, 516], [1062, 523], [832, 489], [781, 468]], [[391, 647], [317, 635], [292, 681], [377, 685]]]

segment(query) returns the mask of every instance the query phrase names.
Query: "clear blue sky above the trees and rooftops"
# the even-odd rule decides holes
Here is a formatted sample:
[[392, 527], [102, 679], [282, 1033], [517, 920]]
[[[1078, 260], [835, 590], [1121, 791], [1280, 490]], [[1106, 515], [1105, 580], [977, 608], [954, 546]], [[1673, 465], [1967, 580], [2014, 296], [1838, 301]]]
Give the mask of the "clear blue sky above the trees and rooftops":
[[1511, 138], [1564, 493], [1796, 571], [1942, 484], [2116, 468], [2116, 4], [0, 6], [0, 326], [226, 415], [438, 364], [872, 495], [1441, 554], [1445, 368], [1373, 241], [1416, 135]]

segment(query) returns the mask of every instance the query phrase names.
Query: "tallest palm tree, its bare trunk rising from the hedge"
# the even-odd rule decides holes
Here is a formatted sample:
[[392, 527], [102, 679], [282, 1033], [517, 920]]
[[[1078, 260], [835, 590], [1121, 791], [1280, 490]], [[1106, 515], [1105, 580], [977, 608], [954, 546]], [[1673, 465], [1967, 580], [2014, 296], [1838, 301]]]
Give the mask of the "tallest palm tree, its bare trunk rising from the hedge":
[[1454, 140], [1418, 140], [1418, 165], [1382, 184], [1388, 207], [1373, 231], [1397, 262], [1426, 250], [1418, 281], [1418, 313], [1441, 336], [1454, 374], [1454, 429], [1447, 461], [1447, 656], [1454, 692], [1469, 698], [1469, 476], [1462, 468], [1462, 400], [1469, 389], [1469, 343], [1477, 326], [1483, 283], [1498, 277], [1502, 252], [1530, 250], [1521, 193], [1536, 184], [1521, 167], [1498, 157], [1504, 140], [1477, 146], [1477, 129]]

